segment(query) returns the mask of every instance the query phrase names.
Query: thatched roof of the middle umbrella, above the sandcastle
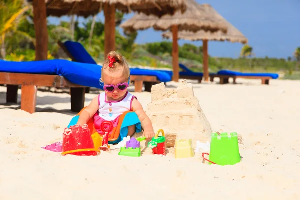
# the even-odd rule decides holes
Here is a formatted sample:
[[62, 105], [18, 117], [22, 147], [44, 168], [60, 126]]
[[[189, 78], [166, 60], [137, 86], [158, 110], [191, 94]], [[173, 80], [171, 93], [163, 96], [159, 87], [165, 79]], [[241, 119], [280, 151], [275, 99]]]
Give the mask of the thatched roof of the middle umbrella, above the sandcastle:
[[184, 13], [176, 12], [173, 16], [164, 15], [161, 18], [136, 14], [120, 25], [125, 31], [144, 30], [153, 27], [155, 30], [168, 30], [172, 25], [178, 25], [178, 30], [227, 31], [227, 26], [214, 13], [210, 13], [195, 0], [185, 0], [187, 9]]

